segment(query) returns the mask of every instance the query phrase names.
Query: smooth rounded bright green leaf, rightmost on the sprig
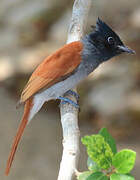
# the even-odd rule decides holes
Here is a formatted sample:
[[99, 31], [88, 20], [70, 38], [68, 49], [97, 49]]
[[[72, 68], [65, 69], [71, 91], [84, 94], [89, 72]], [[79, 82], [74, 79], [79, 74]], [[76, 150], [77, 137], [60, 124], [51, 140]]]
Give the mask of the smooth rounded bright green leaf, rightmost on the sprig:
[[113, 166], [116, 168], [118, 173], [129, 173], [135, 164], [136, 152], [124, 149], [113, 157]]

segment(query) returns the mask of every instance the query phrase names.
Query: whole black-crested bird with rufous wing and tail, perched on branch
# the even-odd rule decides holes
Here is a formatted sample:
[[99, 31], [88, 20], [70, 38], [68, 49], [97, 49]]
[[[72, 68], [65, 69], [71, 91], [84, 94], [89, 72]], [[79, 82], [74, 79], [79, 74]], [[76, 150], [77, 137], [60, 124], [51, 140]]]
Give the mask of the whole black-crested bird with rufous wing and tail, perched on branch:
[[26, 125], [43, 104], [49, 100], [60, 99], [78, 108], [79, 105], [63, 97], [65, 93], [78, 95], [71, 89], [85, 79], [100, 64], [122, 53], [135, 51], [124, 45], [116, 32], [100, 18], [96, 26], [81, 40], [64, 45], [45, 58], [34, 70], [20, 97], [24, 113], [15, 136], [7, 161], [5, 174], [8, 175], [17, 146]]

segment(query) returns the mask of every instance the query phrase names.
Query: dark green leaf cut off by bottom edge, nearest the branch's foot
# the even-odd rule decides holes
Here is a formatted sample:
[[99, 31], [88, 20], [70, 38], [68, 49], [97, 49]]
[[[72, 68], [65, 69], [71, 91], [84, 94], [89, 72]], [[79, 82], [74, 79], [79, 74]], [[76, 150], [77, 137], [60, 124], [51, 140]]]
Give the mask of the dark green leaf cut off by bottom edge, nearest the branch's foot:
[[88, 176], [86, 180], [108, 180], [108, 178], [102, 172], [95, 172]]

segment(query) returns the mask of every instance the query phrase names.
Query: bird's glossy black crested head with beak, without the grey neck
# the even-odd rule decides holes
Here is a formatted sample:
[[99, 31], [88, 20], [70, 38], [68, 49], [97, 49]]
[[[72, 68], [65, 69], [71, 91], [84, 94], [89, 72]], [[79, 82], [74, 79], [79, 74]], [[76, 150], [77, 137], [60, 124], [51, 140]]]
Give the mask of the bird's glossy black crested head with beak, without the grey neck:
[[89, 34], [89, 40], [99, 51], [103, 61], [122, 53], [135, 53], [135, 51], [126, 47], [120, 37], [99, 18], [95, 29]]

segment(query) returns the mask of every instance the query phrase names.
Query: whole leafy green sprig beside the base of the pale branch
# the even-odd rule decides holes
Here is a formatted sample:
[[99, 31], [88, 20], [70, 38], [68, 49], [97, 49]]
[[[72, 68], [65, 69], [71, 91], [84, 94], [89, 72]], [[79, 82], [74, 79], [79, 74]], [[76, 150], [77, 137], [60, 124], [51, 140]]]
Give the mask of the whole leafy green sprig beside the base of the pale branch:
[[116, 143], [106, 128], [98, 134], [81, 139], [86, 146], [89, 171], [78, 173], [77, 180], [134, 180], [130, 174], [136, 152], [123, 149], [117, 152]]

